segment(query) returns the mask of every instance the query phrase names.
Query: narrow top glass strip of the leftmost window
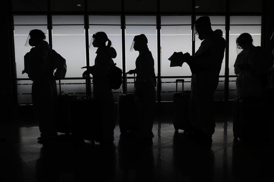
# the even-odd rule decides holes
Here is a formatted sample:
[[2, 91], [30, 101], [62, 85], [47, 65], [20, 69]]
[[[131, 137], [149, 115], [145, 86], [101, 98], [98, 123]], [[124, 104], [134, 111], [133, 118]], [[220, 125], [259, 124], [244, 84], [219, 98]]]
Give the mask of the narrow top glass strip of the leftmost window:
[[47, 16], [45, 15], [26, 15], [26, 16], [19, 16], [15, 15], [13, 16], [13, 22], [15, 25], [22, 25], [22, 24], [28, 24], [28, 25], [37, 25], [37, 24], [47, 24]]

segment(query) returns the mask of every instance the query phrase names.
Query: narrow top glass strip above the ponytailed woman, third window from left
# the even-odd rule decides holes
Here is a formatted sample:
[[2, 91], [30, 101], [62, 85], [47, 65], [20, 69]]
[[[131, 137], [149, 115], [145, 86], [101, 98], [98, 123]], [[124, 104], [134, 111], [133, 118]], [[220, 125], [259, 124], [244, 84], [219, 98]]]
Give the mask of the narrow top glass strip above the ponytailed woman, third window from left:
[[121, 16], [89, 16], [89, 24], [121, 24]]

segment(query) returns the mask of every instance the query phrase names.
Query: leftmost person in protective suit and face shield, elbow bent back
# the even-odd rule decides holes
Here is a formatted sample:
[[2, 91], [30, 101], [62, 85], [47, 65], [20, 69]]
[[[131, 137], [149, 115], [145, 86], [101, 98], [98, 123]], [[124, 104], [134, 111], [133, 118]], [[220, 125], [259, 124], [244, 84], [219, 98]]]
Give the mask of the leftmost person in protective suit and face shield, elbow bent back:
[[[55, 113], [57, 108], [56, 80], [64, 78], [67, 72], [66, 60], [50, 49], [45, 33], [31, 30], [25, 46], [32, 46], [24, 56], [25, 69], [33, 81], [32, 102], [35, 119], [39, 122], [41, 137], [48, 140], [57, 137]], [[54, 70], [56, 69], [55, 73]]]

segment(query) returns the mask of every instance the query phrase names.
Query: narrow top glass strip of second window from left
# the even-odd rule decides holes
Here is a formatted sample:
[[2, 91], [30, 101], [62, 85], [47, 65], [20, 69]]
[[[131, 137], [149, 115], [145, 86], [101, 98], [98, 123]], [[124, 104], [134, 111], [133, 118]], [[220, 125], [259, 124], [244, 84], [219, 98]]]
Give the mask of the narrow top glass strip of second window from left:
[[84, 24], [84, 15], [53, 15], [52, 24]]

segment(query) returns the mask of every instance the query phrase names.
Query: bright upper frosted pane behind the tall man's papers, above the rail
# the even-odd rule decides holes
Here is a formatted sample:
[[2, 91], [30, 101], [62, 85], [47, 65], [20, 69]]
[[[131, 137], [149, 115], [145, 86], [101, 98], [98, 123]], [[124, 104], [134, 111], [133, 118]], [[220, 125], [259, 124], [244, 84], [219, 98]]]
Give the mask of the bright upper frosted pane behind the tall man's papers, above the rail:
[[[189, 66], [184, 63], [182, 67], [170, 67], [168, 58], [174, 52], [192, 54], [191, 26], [178, 24], [190, 24], [191, 16], [161, 16], [161, 23], [174, 24], [173, 26], [161, 26], [161, 76], [191, 76]], [[164, 84], [168, 87], [169, 84]], [[163, 89], [163, 85], [162, 85]]]

